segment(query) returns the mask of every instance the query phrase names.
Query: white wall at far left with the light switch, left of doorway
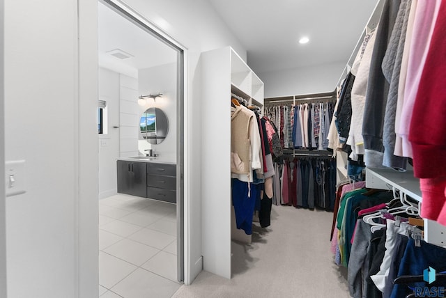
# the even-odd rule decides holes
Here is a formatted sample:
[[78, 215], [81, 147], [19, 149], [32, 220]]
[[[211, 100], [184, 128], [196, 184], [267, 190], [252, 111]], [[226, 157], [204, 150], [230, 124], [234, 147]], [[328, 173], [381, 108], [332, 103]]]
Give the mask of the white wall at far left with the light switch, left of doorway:
[[98, 295], [91, 2], [5, 3], [6, 160], [26, 160], [26, 194], [6, 201], [11, 298]]

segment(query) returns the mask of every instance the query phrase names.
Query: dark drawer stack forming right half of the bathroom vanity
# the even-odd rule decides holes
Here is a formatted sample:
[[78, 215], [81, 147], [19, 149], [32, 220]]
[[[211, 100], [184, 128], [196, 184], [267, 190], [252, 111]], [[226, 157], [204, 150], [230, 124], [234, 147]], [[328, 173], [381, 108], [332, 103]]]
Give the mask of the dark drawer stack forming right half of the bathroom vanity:
[[176, 203], [176, 165], [147, 163], [147, 197]]

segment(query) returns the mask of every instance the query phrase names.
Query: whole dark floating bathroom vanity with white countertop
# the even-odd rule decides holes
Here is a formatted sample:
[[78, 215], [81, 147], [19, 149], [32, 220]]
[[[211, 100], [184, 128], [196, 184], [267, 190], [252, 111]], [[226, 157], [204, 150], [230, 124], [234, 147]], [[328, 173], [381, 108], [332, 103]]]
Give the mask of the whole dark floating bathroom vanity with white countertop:
[[117, 161], [118, 193], [176, 203], [176, 164], [148, 157]]

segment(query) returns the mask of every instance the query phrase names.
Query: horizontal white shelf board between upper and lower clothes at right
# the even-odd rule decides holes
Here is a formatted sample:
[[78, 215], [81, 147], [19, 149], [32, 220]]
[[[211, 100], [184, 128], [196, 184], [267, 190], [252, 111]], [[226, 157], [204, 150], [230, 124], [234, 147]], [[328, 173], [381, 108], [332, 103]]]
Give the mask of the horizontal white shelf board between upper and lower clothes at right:
[[367, 168], [367, 187], [390, 189], [396, 187], [411, 198], [421, 202], [420, 180], [415, 178], [413, 171], [398, 172], [392, 168]]

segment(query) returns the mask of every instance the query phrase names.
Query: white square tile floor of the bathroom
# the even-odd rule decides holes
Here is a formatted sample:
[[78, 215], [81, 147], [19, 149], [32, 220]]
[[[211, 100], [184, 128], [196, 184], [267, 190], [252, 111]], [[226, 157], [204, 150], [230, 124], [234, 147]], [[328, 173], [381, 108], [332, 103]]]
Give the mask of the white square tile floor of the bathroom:
[[169, 298], [176, 281], [176, 205], [117, 194], [99, 201], [99, 296]]

